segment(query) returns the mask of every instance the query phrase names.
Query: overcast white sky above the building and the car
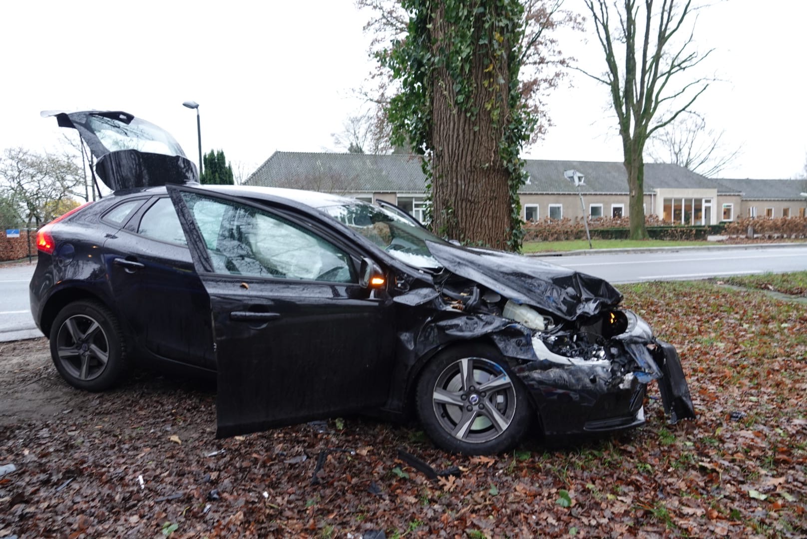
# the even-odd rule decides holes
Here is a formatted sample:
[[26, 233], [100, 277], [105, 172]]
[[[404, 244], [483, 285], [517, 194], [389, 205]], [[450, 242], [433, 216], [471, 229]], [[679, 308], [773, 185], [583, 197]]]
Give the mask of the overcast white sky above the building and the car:
[[[579, 0], [567, 0], [581, 8]], [[371, 64], [353, 0], [312, 2], [6, 2], [0, 20], [0, 148], [52, 148], [44, 110], [111, 109], [164, 127], [197, 160], [223, 148], [251, 172], [275, 150], [324, 151], [362, 107]], [[725, 178], [792, 178], [807, 159], [807, 2], [727, 0], [701, 13], [699, 48], [716, 48], [715, 83], [696, 104], [742, 154]], [[586, 43], [587, 41], [587, 43]], [[564, 51], [598, 66], [596, 36]], [[599, 69], [596, 67], [595, 69]], [[604, 86], [572, 75], [549, 101], [554, 127], [526, 157], [621, 161]]]

